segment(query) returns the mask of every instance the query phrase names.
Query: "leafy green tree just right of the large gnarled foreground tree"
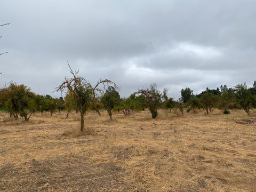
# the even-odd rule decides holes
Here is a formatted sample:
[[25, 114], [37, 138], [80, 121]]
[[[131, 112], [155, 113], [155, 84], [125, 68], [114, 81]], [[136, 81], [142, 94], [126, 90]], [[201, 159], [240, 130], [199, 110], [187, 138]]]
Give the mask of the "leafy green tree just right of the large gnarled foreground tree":
[[101, 103], [103, 108], [108, 111], [110, 120], [112, 120], [112, 114], [115, 107], [119, 105], [120, 95], [118, 91], [113, 86], [109, 86], [105, 94], [101, 97]]

